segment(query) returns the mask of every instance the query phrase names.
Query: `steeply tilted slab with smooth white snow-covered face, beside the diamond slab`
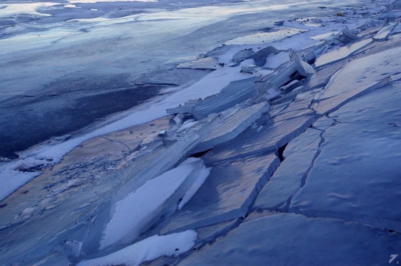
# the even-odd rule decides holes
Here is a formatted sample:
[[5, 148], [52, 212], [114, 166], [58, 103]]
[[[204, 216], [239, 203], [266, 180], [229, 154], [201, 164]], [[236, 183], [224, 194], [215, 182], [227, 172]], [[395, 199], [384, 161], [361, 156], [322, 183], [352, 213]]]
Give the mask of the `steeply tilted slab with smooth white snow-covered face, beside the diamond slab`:
[[128, 244], [160, 218], [192, 186], [205, 168], [202, 159], [188, 158], [178, 167], [147, 181], [111, 209], [100, 249], [120, 242]]

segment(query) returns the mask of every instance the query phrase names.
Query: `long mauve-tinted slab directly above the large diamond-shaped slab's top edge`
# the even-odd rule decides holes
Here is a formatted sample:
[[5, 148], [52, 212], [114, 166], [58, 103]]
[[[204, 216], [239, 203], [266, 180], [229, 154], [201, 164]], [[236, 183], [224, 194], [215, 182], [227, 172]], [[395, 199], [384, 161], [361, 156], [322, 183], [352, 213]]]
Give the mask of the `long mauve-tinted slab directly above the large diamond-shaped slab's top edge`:
[[272, 118], [266, 123], [258, 123], [258, 126], [263, 125], [259, 131], [257, 128], [247, 128], [237, 137], [216, 145], [203, 158], [206, 164], [213, 164], [276, 150], [305, 131], [314, 121], [314, 116], [307, 115], [282, 121]]

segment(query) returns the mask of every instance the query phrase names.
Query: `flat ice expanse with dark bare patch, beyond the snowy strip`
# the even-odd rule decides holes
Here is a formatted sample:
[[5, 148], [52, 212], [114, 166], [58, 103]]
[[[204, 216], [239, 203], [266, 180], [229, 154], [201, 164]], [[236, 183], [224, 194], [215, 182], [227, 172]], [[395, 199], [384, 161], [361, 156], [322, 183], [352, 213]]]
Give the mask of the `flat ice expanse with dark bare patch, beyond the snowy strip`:
[[[339, 8], [367, 4], [2, 1], [0, 156], [16, 158], [15, 152], [35, 144], [84, 135], [117, 119], [110, 115], [123, 117], [121, 112], [160, 97], [161, 90], [181, 90], [209, 73], [177, 69], [166, 63], [170, 59], [199, 55], [238, 37], [265, 32], [277, 27], [275, 21], [326, 17]], [[160, 114], [149, 117], [156, 116]]]

